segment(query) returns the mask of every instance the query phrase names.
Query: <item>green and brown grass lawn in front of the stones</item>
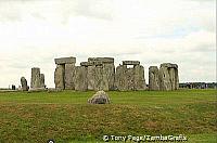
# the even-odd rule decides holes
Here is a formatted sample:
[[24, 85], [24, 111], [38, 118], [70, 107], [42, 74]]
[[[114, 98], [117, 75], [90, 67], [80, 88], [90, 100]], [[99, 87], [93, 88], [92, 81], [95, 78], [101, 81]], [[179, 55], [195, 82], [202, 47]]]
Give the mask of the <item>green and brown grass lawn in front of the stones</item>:
[[104, 142], [103, 135], [179, 135], [215, 143], [217, 90], [0, 92], [0, 142]]

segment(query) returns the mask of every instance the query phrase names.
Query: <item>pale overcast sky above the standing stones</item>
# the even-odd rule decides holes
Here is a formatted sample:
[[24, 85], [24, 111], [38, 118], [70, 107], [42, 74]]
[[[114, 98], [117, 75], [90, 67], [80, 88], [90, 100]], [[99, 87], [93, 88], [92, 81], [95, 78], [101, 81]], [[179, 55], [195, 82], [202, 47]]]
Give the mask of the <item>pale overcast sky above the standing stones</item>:
[[54, 57], [112, 56], [115, 65], [170, 62], [179, 78], [216, 81], [215, 0], [0, 0], [0, 87], [30, 82], [40, 67], [54, 87]]

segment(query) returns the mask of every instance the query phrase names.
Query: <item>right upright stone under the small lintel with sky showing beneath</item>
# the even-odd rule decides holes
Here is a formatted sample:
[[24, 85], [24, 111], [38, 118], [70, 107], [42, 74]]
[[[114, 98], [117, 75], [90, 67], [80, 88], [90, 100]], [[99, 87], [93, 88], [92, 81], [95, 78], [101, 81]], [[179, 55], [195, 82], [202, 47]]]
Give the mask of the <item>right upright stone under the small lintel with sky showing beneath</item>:
[[135, 90], [145, 90], [144, 67], [136, 65], [135, 67]]

